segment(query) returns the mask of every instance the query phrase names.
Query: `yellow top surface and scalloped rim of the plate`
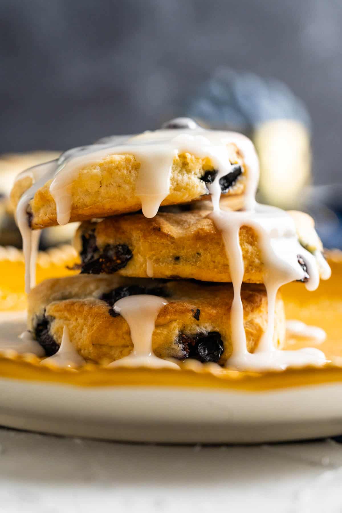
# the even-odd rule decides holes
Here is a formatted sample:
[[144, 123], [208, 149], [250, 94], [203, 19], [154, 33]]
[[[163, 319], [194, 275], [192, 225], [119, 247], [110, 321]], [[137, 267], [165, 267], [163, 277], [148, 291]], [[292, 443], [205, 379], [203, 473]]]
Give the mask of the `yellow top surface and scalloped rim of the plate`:
[[[222, 369], [216, 364], [203, 365], [187, 361], [182, 365], [180, 371], [145, 368], [108, 369], [95, 364], [87, 364], [75, 372], [53, 366], [41, 367], [39, 359], [32, 355], [18, 356], [14, 352], [7, 352], [6, 356], [0, 357], [0, 377], [68, 383], [82, 387], [144, 385], [209, 387], [249, 392], [342, 381], [342, 367], [340, 367], [342, 361], [340, 337], [342, 297], [339, 290], [342, 284], [342, 253], [339, 251], [329, 252], [328, 261], [332, 267], [332, 278], [327, 282], [321, 282], [315, 292], [308, 292], [300, 283], [292, 283], [283, 287], [287, 318], [298, 319], [326, 330], [327, 340], [319, 345], [319, 348], [326, 352], [332, 363], [324, 368], [307, 367], [305, 369], [288, 369], [282, 372], [251, 373]], [[22, 273], [23, 269], [20, 269]], [[49, 266], [46, 271], [42, 270], [41, 274], [38, 274], [38, 280], [52, 275], [65, 275], [65, 273], [65, 264], [64, 266]], [[20, 279], [23, 279], [22, 275]], [[10, 287], [10, 280], [6, 286]], [[312, 340], [289, 339], [287, 341], [287, 349], [308, 345], [313, 345]]]

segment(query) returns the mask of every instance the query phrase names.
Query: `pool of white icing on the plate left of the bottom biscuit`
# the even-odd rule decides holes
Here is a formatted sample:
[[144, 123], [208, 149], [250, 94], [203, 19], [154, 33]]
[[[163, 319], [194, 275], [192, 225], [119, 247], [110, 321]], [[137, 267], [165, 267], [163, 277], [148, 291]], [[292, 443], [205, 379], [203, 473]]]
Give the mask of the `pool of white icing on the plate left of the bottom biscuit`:
[[44, 356], [43, 347], [33, 339], [26, 330], [26, 312], [1, 312], [0, 317], [0, 351], [15, 351], [19, 354], [33, 353]]

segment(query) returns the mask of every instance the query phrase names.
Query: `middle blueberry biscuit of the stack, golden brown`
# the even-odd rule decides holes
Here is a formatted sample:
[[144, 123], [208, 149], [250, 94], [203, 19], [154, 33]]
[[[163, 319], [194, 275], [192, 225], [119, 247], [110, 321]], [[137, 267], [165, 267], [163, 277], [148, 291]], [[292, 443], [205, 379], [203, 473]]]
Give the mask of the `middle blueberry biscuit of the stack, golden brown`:
[[[78, 268], [90, 274], [231, 282], [222, 233], [208, 213], [159, 212], [153, 219], [120, 215], [83, 223], [74, 239], [82, 261]], [[263, 283], [265, 266], [255, 231], [243, 226], [239, 236], [244, 282]]]

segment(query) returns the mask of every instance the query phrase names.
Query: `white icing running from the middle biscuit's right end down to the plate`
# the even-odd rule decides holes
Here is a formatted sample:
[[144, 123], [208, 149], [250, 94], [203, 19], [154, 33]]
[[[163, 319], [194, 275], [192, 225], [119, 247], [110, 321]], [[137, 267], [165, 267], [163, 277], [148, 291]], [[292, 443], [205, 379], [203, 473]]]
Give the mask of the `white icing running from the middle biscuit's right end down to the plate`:
[[[258, 169], [257, 158], [253, 158], [251, 153], [248, 161]], [[327, 360], [324, 353], [318, 349], [281, 351], [274, 347], [275, 301], [279, 287], [305, 278], [305, 271], [298, 264], [298, 255], [303, 256], [310, 276], [306, 283], [308, 290], [315, 290], [318, 287], [319, 270], [314, 256], [299, 244], [296, 227], [290, 215], [276, 207], [255, 202], [258, 171], [254, 169], [249, 177], [245, 210], [239, 212], [220, 209], [221, 191], [218, 184], [220, 173], [209, 186], [213, 205], [213, 212], [209, 216], [222, 232], [234, 289], [231, 308], [233, 352], [226, 366], [238, 370], [281, 370], [288, 366], [323, 365]], [[268, 324], [254, 353], [250, 353], [247, 349], [244, 310], [240, 297], [244, 278], [244, 261], [239, 243], [239, 230], [242, 226], [250, 226], [256, 232], [265, 266], [264, 284], [268, 299]]]

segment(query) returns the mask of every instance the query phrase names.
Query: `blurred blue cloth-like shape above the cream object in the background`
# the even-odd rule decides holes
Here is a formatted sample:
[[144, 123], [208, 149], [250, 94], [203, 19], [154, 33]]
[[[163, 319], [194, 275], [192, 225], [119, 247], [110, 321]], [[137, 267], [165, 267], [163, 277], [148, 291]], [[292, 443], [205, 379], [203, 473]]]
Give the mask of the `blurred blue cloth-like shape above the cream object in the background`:
[[290, 119], [311, 131], [307, 107], [284, 82], [228, 67], [218, 68], [186, 98], [184, 111], [212, 128], [248, 133], [265, 121]]

